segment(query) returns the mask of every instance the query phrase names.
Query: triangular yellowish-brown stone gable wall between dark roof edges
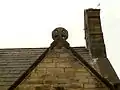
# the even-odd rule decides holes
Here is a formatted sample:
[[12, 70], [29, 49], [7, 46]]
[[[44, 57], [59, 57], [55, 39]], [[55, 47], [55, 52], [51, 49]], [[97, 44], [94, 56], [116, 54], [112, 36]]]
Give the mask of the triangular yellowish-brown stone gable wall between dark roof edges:
[[108, 90], [72, 53], [53, 49], [16, 90]]

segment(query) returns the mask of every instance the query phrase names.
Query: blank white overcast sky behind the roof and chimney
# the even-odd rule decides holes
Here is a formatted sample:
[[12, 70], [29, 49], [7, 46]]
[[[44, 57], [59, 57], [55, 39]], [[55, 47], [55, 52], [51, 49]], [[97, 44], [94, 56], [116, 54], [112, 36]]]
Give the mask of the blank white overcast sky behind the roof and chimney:
[[98, 3], [107, 55], [120, 77], [119, 0], [0, 0], [0, 48], [49, 47], [58, 26], [68, 30], [71, 46], [85, 46], [83, 12]]

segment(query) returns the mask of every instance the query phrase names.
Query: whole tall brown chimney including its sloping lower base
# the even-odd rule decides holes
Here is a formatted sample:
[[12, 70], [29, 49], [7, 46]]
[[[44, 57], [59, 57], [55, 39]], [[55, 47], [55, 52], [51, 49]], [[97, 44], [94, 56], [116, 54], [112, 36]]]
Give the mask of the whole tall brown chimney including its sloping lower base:
[[113, 83], [120, 82], [106, 55], [100, 21], [100, 9], [86, 9], [84, 11], [84, 27], [87, 49], [92, 59], [97, 60], [96, 65], [101, 75]]

